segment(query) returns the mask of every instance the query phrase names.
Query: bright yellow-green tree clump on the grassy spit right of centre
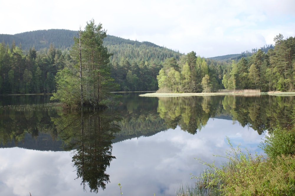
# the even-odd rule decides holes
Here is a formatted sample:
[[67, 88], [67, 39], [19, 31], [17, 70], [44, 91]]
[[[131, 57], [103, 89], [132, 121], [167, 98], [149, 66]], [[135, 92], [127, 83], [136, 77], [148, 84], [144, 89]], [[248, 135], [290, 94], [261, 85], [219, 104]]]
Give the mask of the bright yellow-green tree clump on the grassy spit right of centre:
[[[174, 58], [166, 59], [163, 68], [159, 71], [158, 92], [211, 92], [218, 84], [218, 68], [200, 56], [196, 56], [194, 51], [183, 55], [179, 61]], [[204, 83], [202, 83], [202, 79]], [[205, 87], [205, 86], [206, 87]]]

